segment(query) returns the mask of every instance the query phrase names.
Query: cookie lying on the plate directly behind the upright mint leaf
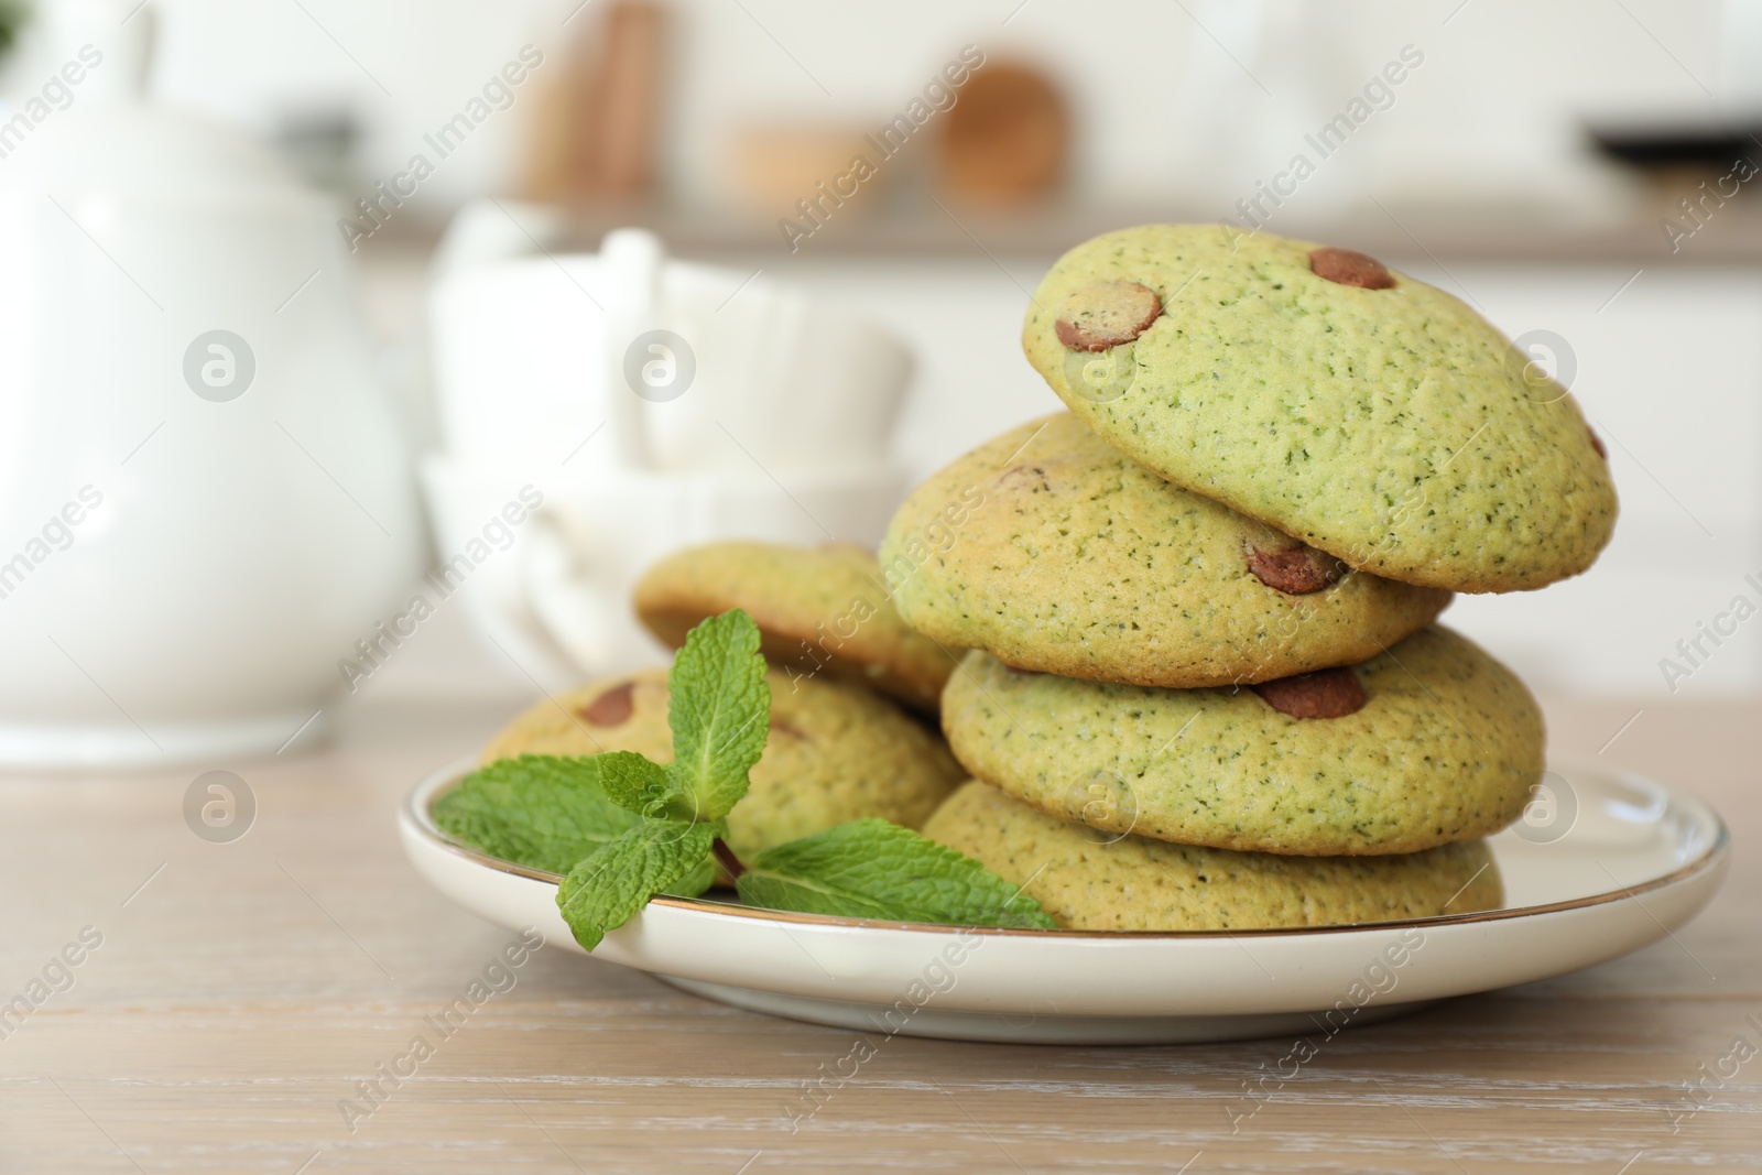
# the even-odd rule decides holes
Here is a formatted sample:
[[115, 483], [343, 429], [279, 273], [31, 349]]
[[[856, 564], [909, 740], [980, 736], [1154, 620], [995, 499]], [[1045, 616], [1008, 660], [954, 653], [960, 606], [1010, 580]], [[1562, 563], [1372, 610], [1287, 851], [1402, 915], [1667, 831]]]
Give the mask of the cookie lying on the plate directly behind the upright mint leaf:
[[[752, 789], [728, 816], [728, 844], [751, 858], [844, 821], [879, 816], [918, 828], [966, 772], [948, 747], [893, 703], [828, 680], [796, 682], [781, 669], [772, 689], [770, 738], [752, 768]], [[601, 699], [627, 698], [622, 722], [592, 724]], [[516, 717], [483, 752], [485, 763], [520, 754], [589, 756], [634, 750], [673, 757], [666, 669], [583, 685]]]

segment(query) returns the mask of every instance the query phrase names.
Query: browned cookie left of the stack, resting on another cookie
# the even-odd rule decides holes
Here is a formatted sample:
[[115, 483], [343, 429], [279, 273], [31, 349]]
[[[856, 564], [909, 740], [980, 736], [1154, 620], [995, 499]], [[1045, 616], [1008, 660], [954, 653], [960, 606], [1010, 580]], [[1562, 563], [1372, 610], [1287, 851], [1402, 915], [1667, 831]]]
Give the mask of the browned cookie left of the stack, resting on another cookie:
[[636, 585], [638, 618], [671, 648], [731, 608], [752, 617], [765, 661], [791, 676], [862, 682], [936, 713], [955, 671], [948, 652], [906, 627], [876, 557], [851, 543], [712, 543], [668, 555]]

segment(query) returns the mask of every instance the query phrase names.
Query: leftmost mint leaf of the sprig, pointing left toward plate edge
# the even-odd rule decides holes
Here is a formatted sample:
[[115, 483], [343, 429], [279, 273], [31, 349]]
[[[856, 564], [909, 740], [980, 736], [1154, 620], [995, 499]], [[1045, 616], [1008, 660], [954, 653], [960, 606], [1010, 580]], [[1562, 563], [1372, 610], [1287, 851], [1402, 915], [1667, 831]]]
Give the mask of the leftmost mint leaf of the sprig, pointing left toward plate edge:
[[599, 756], [499, 759], [440, 796], [433, 814], [455, 840], [552, 874], [641, 823], [606, 798]]

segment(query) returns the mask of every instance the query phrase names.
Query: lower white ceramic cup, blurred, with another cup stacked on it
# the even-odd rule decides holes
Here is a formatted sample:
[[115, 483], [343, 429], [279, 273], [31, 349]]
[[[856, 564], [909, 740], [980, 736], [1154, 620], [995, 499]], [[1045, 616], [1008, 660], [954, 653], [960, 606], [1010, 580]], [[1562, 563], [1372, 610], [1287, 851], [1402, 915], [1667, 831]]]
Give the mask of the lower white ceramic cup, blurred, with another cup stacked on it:
[[516, 467], [430, 456], [421, 477], [442, 567], [523, 488], [543, 497], [506, 550], [492, 544], [458, 599], [511, 675], [546, 691], [664, 659], [631, 610], [631, 592], [661, 557], [721, 539], [874, 546], [906, 488], [886, 463], [791, 474], [784, 484], [751, 469], [610, 467], [539, 484]]

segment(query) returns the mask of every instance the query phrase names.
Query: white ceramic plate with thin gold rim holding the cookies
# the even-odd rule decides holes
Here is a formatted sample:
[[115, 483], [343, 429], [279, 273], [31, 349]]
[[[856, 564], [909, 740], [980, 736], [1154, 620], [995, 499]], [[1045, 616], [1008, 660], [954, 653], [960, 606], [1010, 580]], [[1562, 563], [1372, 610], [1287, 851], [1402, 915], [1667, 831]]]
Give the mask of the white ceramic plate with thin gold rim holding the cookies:
[[[467, 849], [430, 817], [469, 770], [423, 780], [403, 847], [442, 893], [580, 950], [557, 881]], [[1558, 773], [1556, 773], [1558, 772]], [[1630, 775], [1556, 768], [1563, 835], [1492, 839], [1507, 905], [1367, 927], [1255, 932], [971, 930], [655, 898], [594, 951], [738, 1008], [862, 1032], [983, 1041], [1218, 1041], [1314, 1034], [1626, 955], [1720, 888], [1729, 837], [1704, 803]]]

